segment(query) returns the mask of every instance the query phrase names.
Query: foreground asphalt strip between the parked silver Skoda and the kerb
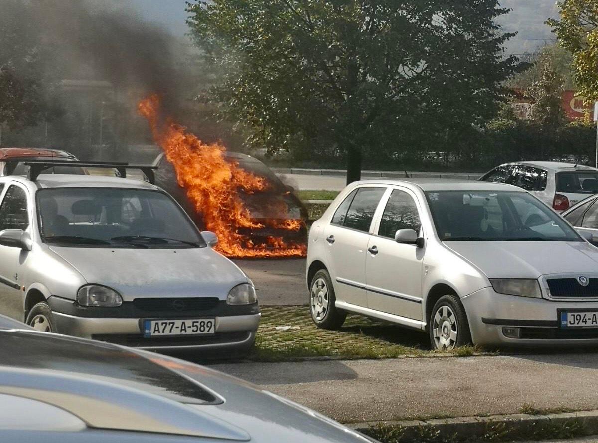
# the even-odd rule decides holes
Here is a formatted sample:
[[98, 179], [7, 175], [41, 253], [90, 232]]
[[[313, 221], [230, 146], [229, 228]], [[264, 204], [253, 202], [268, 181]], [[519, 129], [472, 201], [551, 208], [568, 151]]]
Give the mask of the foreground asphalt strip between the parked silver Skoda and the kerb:
[[598, 353], [214, 367], [345, 423], [598, 409]]

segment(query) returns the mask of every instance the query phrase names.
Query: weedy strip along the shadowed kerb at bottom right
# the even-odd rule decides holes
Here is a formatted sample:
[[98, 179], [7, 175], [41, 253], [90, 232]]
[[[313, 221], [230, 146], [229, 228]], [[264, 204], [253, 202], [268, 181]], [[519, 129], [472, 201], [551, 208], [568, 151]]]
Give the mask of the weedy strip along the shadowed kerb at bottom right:
[[515, 429], [506, 422], [488, 422], [482, 435], [463, 436], [459, 433], [443, 435], [431, 425], [407, 428], [399, 425], [376, 424], [362, 431], [382, 443], [469, 443], [506, 441], [543, 441], [569, 439], [588, 435], [584, 423], [578, 419], [557, 423], [532, 423], [525, 429]]

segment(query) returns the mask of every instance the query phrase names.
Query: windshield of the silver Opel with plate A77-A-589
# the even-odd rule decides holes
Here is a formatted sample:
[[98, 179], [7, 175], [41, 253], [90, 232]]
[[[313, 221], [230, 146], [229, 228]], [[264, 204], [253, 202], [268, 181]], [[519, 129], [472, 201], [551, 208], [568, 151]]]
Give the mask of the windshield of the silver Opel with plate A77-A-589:
[[82, 187], [37, 192], [44, 242], [64, 246], [192, 248], [206, 244], [163, 192]]

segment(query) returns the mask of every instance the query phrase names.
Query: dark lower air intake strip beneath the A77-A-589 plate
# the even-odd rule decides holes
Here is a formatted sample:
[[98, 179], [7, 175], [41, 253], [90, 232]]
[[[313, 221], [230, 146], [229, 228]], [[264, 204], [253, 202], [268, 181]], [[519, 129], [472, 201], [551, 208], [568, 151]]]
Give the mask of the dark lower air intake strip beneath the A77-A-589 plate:
[[150, 337], [145, 339], [140, 334], [96, 334], [91, 336], [94, 340], [123, 346], [144, 347], [144, 346], [200, 346], [205, 344], [226, 344], [243, 342], [249, 338], [249, 331], [231, 333], [216, 333], [213, 336], [193, 337]]

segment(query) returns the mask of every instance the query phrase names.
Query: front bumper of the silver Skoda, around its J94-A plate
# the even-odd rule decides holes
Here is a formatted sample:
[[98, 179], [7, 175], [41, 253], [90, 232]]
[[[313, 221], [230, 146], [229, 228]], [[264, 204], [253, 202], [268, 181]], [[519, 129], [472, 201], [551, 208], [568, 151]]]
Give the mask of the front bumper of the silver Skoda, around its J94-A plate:
[[[494, 346], [593, 346], [598, 328], [560, 328], [559, 310], [598, 310], [598, 302], [555, 302], [498, 294], [483, 288], [461, 299], [474, 344]], [[519, 338], [505, 336], [510, 328]], [[506, 331], [507, 333], [512, 331]]]

